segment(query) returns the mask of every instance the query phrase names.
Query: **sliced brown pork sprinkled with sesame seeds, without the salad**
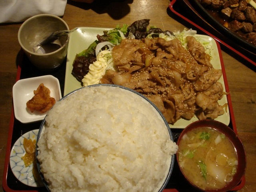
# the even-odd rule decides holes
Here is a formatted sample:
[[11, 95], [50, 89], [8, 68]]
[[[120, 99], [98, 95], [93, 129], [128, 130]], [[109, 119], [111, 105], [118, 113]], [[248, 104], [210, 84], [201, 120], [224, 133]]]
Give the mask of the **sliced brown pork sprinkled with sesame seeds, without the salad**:
[[224, 114], [217, 82], [222, 70], [214, 69], [210, 55], [193, 36], [186, 50], [180, 40], [123, 39], [112, 57], [118, 70], [107, 70], [100, 83], [117, 84], [140, 92], [163, 113], [168, 123], [180, 118], [217, 118]]

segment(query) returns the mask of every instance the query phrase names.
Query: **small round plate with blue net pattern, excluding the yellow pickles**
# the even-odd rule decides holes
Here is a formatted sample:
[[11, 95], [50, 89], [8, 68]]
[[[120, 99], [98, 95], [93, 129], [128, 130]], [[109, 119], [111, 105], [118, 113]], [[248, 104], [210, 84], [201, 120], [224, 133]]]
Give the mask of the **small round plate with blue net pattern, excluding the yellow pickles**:
[[23, 146], [24, 138], [27, 139], [36, 139], [38, 134], [38, 129], [29, 131], [23, 134], [14, 144], [10, 153], [10, 166], [14, 176], [20, 180], [23, 184], [32, 187], [41, 187], [44, 186], [42, 181], [36, 181], [32, 170], [33, 170], [33, 163], [30, 166], [25, 166], [24, 161], [21, 159], [22, 156], [25, 155], [25, 149]]

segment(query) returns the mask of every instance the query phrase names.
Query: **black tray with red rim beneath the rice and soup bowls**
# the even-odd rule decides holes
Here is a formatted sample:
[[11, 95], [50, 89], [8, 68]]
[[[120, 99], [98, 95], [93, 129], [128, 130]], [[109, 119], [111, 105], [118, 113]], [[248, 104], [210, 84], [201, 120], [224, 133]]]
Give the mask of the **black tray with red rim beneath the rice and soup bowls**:
[[[216, 44], [218, 46], [218, 51], [220, 55], [220, 62], [222, 67], [222, 75], [224, 78], [224, 84], [226, 88], [226, 92], [229, 92], [228, 88], [228, 82], [226, 78], [226, 72], [224, 68], [224, 63], [222, 59], [222, 54], [220, 51], [220, 44], [216, 41]], [[65, 70], [66, 70], [66, 61], [63, 62], [63, 64], [58, 68], [57, 70], [54, 70], [52, 72], [42, 72], [38, 69], [36, 69], [28, 60], [28, 58], [25, 56], [24, 52], [20, 52], [20, 57], [18, 59], [18, 72], [16, 76], [16, 81], [24, 78], [31, 78], [35, 76], [42, 76], [42, 75], [48, 75], [51, 74], [58, 78], [60, 82], [60, 88], [63, 95], [64, 90], [64, 80], [65, 80]], [[230, 124], [229, 127], [234, 130], [234, 132], [237, 132], [236, 130], [236, 124], [234, 120], [234, 112], [232, 108], [231, 98], [230, 94], [227, 95], [228, 100], [228, 106], [229, 106], [229, 112], [230, 112]], [[44, 192], [47, 191], [45, 187], [40, 188], [34, 188], [30, 186], [26, 186], [25, 184], [22, 184], [18, 179], [15, 178], [15, 176], [12, 173], [12, 170], [10, 168], [9, 159], [10, 159], [10, 151], [13, 146], [13, 144], [16, 142], [16, 140], [25, 134], [26, 132], [30, 130], [34, 130], [40, 127], [41, 122], [31, 123], [31, 124], [22, 124], [16, 118], [14, 117], [14, 110], [12, 108], [12, 114], [10, 119], [10, 126], [9, 126], [9, 133], [8, 133], [8, 142], [6, 147], [6, 158], [4, 163], [4, 176], [2, 185], [6, 192]], [[172, 134], [174, 137], [174, 141], [178, 140], [178, 137], [180, 135], [180, 132], [182, 129], [172, 129]], [[243, 178], [238, 186], [233, 188], [233, 190], [239, 190], [241, 189], [245, 184], [245, 178]], [[170, 180], [168, 184], [166, 185], [166, 189], [164, 189], [164, 192], [196, 192], [190, 184], [186, 182], [186, 180], [183, 178], [182, 174], [180, 173], [180, 170], [178, 168], [178, 163], [174, 162], [174, 168], [170, 177]]]

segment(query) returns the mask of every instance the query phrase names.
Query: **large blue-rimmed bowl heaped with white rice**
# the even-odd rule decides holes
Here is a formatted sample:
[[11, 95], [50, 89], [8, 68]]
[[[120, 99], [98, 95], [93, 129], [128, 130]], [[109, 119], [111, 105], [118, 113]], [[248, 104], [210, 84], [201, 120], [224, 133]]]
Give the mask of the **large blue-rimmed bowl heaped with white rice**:
[[40, 126], [36, 158], [51, 192], [160, 192], [177, 149], [150, 100], [98, 84], [56, 102]]

